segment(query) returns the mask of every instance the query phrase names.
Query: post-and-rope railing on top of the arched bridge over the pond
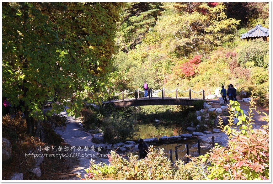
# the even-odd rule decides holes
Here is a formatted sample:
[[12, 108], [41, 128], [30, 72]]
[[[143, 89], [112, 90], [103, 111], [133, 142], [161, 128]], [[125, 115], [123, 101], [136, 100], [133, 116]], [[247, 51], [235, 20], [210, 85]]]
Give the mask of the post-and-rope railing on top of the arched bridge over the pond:
[[[179, 90], [178, 88], [175, 88], [174, 90], [167, 90], [164, 87], [162, 89], [158, 89], [158, 90], [154, 90], [153, 88], [148, 89], [148, 98], [150, 99], [151, 97], [153, 97], [153, 95], [155, 95], [155, 93], [159, 93], [156, 96], [161, 96], [162, 99], [164, 99], [166, 97], [166, 95], [168, 97], [174, 97], [175, 94], [175, 98], [179, 98], [179, 97], [189, 97], [190, 99], [192, 97], [194, 98], [202, 98], [203, 100], [205, 100], [205, 91], [201, 90], [201, 91], [193, 91], [192, 89], [188, 89], [188, 90]], [[171, 94], [172, 93], [172, 94]], [[184, 94], [185, 93], [185, 94]], [[197, 95], [193, 95], [193, 93], [196, 93]], [[131, 98], [140, 98], [140, 96], [142, 96], [142, 94], [144, 94], [144, 91], [141, 91], [139, 89], [136, 89], [134, 92], [130, 92], [129, 90], [124, 90], [120, 93], [115, 93], [115, 96], [113, 97], [113, 100], [115, 100], [116, 96], [120, 96], [120, 98], [122, 99], [122, 101], [124, 101], [124, 99], [127, 99], [127, 97], [131, 97]], [[171, 95], [169, 95], [171, 94]], [[111, 99], [109, 99], [109, 101], [111, 101]]]

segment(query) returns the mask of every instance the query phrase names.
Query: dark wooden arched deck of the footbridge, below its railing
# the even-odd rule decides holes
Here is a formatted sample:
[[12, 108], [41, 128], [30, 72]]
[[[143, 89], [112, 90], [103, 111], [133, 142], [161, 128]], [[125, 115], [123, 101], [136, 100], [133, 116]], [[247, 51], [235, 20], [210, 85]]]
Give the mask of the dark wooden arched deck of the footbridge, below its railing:
[[103, 104], [113, 104], [114, 107], [130, 107], [143, 105], [189, 105], [192, 106], [196, 100], [203, 100], [202, 98], [187, 98], [187, 97], [150, 97], [149, 98], [128, 98], [121, 100], [105, 101]]

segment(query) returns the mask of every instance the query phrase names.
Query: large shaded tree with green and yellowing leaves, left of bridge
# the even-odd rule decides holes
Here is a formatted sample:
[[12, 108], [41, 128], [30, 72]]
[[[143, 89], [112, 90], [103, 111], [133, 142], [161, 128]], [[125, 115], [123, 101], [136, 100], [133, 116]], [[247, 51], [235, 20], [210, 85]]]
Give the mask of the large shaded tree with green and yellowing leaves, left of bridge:
[[[116, 23], [124, 3], [3, 3], [3, 96], [24, 105], [28, 133], [63, 110], [79, 116], [83, 100], [107, 97]], [[44, 107], [53, 97], [51, 111]], [[66, 108], [65, 108], [66, 107]], [[68, 108], [67, 108], [68, 107]]]

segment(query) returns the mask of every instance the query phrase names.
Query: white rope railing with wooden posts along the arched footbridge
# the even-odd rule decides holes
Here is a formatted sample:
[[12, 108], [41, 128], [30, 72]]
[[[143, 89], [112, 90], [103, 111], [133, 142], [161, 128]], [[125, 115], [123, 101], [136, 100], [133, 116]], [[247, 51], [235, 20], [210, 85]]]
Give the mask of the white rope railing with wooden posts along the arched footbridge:
[[[164, 99], [165, 93], [173, 93], [173, 92], [175, 92], [175, 98], [176, 99], [178, 99], [178, 94], [181, 94], [181, 93], [189, 92], [189, 96], [188, 97], [190, 99], [192, 97], [191, 92], [194, 92], [194, 93], [203, 93], [202, 97], [203, 97], [203, 100], [205, 100], [205, 91], [204, 90], [201, 90], [201, 91], [198, 91], [198, 92], [195, 92], [195, 91], [193, 91], [191, 89], [183, 91], [183, 90], [180, 90], [178, 88], [175, 88], [174, 90], [168, 90], [168, 89], [165, 89], [164, 87], [162, 89], [158, 89], [158, 90], [154, 90], [153, 88], [149, 88], [147, 96], [150, 99], [151, 97], [153, 97], [153, 93], [158, 93], [158, 92], [162, 92], [162, 99]], [[122, 91], [120, 93], [115, 92], [115, 96], [118, 96], [118, 95], [121, 94], [121, 98], [122, 98], [122, 101], [123, 101], [124, 99], [127, 99], [127, 95], [133, 95], [133, 94], [135, 94], [135, 98], [137, 100], [137, 98], [141, 98], [140, 94], [144, 94], [144, 93], [145, 93], [145, 91], [142, 91], [140, 89], [136, 89], [135, 92], [130, 92], [129, 90], [125, 90], [125, 91]], [[113, 100], [115, 100], [115, 96], [113, 97]], [[182, 96], [182, 97], [185, 98], [185, 95]], [[111, 99], [109, 101], [111, 101]]]

